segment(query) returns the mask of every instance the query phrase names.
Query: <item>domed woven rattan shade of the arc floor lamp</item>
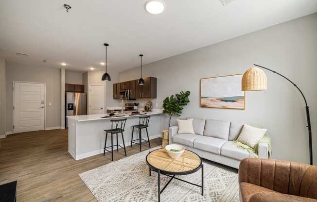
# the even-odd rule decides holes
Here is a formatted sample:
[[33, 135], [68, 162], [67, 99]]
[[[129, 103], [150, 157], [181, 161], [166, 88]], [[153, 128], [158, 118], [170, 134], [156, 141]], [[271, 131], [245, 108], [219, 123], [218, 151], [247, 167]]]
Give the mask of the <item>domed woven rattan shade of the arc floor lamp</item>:
[[242, 91], [266, 89], [267, 78], [262, 69], [251, 67], [244, 73], [242, 77]]

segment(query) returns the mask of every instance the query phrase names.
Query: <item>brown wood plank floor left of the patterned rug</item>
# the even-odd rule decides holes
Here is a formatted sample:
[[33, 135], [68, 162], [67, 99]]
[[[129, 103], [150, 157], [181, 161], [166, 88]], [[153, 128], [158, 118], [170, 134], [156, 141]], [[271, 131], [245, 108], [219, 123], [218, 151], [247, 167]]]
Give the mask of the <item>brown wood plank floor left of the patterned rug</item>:
[[[161, 138], [151, 140], [152, 147], [160, 144]], [[126, 150], [133, 155], [139, 145]], [[18, 202], [97, 202], [78, 174], [111, 163], [109, 154], [75, 161], [68, 153], [67, 130], [8, 135], [1, 139], [0, 184], [18, 180]], [[124, 157], [123, 149], [114, 152], [114, 160]]]

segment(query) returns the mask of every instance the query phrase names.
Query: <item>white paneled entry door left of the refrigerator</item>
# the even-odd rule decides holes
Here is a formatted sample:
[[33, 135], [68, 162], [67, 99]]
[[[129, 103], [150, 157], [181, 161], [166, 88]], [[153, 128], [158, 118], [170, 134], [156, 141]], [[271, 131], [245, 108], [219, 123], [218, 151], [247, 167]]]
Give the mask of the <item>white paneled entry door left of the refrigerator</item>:
[[44, 130], [45, 84], [14, 82], [13, 131]]

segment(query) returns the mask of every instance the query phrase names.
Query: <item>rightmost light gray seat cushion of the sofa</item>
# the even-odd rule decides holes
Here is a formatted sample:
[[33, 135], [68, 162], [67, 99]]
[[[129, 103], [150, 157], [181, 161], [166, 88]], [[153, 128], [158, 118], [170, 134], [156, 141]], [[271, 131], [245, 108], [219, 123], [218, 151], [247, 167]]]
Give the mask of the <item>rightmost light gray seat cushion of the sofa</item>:
[[237, 160], [242, 160], [244, 158], [250, 157], [249, 152], [239, 149], [232, 143], [232, 141], [226, 142], [222, 147], [221, 147], [221, 152], [220, 154], [222, 156], [227, 156], [229, 158], [234, 158]]

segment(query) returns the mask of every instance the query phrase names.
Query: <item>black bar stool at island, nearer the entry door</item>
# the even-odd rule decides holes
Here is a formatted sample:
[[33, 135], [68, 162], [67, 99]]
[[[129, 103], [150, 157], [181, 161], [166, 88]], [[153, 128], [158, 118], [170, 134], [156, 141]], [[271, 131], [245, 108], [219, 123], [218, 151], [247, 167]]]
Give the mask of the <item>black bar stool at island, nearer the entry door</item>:
[[[104, 155], [105, 152], [111, 152], [111, 161], [113, 161], [113, 146], [117, 146], [117, 152], [119, 152], [119, 147], [121, 147], [121, 145], [118, 144], [118, 133], [121, 133], [122, 136], [122, 141], [123, 141], [123, 148], [124, 149], [124, 154], [126, 156], [126, 151], [125, 151], [125, 145], [124, 145], [124, 138], [123, 138], [123, 131], [124, 131], [124, 127], [125, 127], [125, 121], [126, 118], [122, 118], [122, 119], [112, 119], [111, 121], [111, 129], [108, 130], [104, 130], [106, 132], [106, 140], [105, 140], [105, 147], [104, 147]], [[108, 137], [108, 133], [111, 134], [111, 151], [107, 150], [106, 147], [106, 143], [107, 143], [107, 137]], [[113, 139], [112, 139], [112, 135], [116, 134], [117, 135], [117, 144], [113, 145]]]

